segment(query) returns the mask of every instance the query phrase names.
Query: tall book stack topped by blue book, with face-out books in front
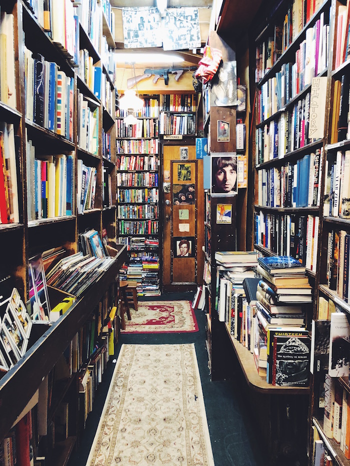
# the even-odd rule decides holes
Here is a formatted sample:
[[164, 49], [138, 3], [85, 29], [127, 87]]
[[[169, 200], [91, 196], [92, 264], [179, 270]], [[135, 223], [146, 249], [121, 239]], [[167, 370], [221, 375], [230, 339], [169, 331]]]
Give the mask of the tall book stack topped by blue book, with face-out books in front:
[[310, 340], [303, 306], [312, 302], [305, 267], [290, 256], [259, 257], [255, 342], [267, 348], [266, 381], [308, 386]]

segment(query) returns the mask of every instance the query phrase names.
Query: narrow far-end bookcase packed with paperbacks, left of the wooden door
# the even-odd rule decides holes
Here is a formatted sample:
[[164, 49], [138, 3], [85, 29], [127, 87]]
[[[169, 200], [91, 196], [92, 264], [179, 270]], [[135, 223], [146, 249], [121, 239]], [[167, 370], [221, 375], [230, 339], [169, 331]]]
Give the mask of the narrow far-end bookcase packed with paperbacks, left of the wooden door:
[[138, 296], [160, 294], [159, 102], [143, 96], [137, 123], [127, 125], [117, 109], [117, 232], [128, 264], [120, 279], [136, 281]]

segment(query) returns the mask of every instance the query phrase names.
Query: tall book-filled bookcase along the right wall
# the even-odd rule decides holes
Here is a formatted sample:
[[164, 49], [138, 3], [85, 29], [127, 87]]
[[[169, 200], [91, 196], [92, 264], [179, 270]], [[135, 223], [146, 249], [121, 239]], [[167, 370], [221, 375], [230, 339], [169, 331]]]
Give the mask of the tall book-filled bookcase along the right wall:
[[[336, 319], [349, 320], [349, 2], [271, 2], [263, 10], [273, 12], [255, 40], [254, 247], [306, 267], [314, 286], [307, 461], [321, 464], [321, 452], [324, 464], [348, 466], [348, 344], [338, 350], [344, 359], [337, 354], [343, 370], [332, 367], [332, 351], [336, 336], [350, 339], [348, 324], [345, 336], [336, 329]], [[324, 113], [313, 138], [309, 100], [318, 84]]]

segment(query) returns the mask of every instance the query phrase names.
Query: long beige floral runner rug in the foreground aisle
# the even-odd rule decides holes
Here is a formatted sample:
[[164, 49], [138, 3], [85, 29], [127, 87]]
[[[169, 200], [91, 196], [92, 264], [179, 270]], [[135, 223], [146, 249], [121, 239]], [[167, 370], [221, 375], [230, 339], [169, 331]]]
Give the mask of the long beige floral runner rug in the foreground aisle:
[[86, 465], [214, 466], [194, 344], [122, 345]]

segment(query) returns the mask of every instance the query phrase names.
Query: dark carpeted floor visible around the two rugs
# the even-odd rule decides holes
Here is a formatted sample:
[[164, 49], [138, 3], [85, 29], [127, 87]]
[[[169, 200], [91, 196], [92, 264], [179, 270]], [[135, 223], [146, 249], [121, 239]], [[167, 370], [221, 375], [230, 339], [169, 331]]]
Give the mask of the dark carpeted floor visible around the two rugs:
[[[160, 299], [191, 301], [192, 296], [193, 293], [172, 293], [164, 294]], [[237, 384], [234, 381], [210, 381], [205, 348], [205, 314], [202, 311], [195, 311], [195, 316], [199, 327], [199, 331], [195, 333], [121, 335], [114, 358], [117, 358], [123, 343], [194, 343], [215, 466], [267, 466], [261, 460], [261, 449], [257, 445], [258, 436], [252, 432], [251, 416], [246, 410], [247, 403]], [[104, 372], [104, 379], [98, 388], [93, 411], [88, 415], [80, 446], [72, 455], [69, 466], [86, 464], [114, 370], [112, 360], [113, 358], [110, 359]]]

